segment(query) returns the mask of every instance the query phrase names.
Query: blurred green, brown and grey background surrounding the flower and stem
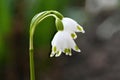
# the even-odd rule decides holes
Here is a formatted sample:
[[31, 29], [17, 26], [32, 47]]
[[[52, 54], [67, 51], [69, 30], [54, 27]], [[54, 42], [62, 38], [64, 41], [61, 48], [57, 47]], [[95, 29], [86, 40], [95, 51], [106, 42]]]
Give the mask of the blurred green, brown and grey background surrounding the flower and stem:
[[50, 58], [54, 18], [34, 36], [36, 80], [120, 80], [120, 0], [0, 0], [0, 80], [29, 80], [29, 25], [44, 10], [80, 23], [81, 53]]

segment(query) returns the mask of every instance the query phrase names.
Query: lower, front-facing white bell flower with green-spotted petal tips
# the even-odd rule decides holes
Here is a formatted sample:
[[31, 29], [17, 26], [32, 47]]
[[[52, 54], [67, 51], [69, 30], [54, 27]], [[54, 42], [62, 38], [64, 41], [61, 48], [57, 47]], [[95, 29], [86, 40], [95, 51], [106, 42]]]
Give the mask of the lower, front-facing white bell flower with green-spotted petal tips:
[[72, 55], [71, 49], [80, 52], [80, 49], [77, 47], [76, 43], [70, 36], [70, 34], [66, 31], [58, 31], [52, 42], [52, 52], [50, 54], [50, 57], [58, 57], [61, 55], [62, 52], [64, 52], [66, 55]]

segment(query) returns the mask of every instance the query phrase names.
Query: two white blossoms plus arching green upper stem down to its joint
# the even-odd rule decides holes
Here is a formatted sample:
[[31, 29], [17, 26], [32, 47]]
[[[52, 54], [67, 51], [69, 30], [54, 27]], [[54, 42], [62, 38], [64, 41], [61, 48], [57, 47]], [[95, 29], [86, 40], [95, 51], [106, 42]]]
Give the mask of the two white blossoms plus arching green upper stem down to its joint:
[[[71, 49], [80, 52], [80, 49], [77, 47], [76, 43], [74, 42], [74, 39], [77, 38], [76, 32], [85, 33], [83, 27], [80, 26], [75, 20], [68, 17], [63, 17], [63, 15], [57, 11], [44, 11], [37, 14], [32, 19], [31, 27], [30, 27], [30, 32], [31, 32], [30, 40], [33, 39], [35, 25], [37, 25], [43, 19], [50, 16], [55, 18], [55, 24], [58, 30], [58, 32], [55, 34], [51, 42], [52, 52], [50, 57], [53, 56], [58, 57], [61, 55], [62, 52], [65, 53], [66, 55], [72, 55]], [[31, 45], [30, 48], [32, 48], [32, 43], [30, 43], [30, 45]]]

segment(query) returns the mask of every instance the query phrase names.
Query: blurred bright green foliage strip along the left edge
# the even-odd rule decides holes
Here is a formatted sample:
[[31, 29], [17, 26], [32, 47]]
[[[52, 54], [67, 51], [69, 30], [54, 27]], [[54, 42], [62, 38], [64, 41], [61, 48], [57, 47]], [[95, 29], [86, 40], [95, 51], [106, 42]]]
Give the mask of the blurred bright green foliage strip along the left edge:
[[11, 31], [10, 0], [0, 0], [0, 61], [6, 59], [8, 52], [7, 36]]

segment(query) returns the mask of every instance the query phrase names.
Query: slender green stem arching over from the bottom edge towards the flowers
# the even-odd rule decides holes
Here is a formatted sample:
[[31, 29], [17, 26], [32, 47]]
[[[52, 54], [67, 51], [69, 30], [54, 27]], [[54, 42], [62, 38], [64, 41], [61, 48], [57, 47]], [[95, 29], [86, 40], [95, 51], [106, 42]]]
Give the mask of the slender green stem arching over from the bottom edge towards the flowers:
[[[52, 11], [46, 11], [45, 13], [37, 14], [33, 17], [31, 24], [30, 24], [30, 35], [29, 35], [29, 59], [30, 59], [30, 80], [35, 80], [35, 71], [34, 71], [34, 49], [33, 49], [33, 35], [35, 28], [38, 23], [44, 20], [47, 17], [53, 16], [55, 19], [58, 17], [55, 14], [51, 13]], [[50, 14], [51, 13], [51, 14]], [[55, 11], [53, 12], [55, 13]]]

